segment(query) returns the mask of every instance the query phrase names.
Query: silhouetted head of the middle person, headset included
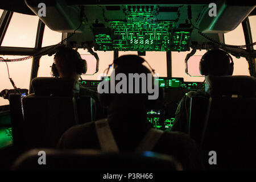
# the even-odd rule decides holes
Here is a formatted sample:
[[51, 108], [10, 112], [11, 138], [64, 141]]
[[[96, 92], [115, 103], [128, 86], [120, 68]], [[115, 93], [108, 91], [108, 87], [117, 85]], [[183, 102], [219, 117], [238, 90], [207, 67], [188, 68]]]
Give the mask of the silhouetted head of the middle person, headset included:
[[[144, 61], [137, 55], [125, 55], [114, 60], [114, 70], [108, 82], [109, 89], [106, 90], [109, 93], [100, 94], [100, 100], [105, 106], [109, 106], [109, 109], [120, 105], [141, 108], [154, 100], [150, 100], [150, 94], [158, 98], [159, 88], [154, 86], [154, 75], [142, 64]], [[151, 88], [151, 92], [148, 92], [148, 88]]]

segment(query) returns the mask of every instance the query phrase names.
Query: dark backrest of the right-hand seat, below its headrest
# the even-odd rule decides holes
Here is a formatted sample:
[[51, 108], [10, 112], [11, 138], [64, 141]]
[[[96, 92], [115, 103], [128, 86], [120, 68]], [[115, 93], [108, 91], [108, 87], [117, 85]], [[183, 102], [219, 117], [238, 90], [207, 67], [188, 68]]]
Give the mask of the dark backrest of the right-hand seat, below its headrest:
[[[202, 142], [208, 169], [256, 169], [256, 98], [212, 98]], [[209, 152], [217, 165], [208, 163]]]

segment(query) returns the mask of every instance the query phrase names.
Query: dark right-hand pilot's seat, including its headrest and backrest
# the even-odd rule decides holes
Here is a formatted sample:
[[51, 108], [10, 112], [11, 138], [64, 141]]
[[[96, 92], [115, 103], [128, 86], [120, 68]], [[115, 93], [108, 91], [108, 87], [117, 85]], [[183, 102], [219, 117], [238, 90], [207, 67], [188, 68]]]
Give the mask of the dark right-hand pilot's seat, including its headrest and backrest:
[[[192, 98], [190, 110], [191, 126], [198, 125], [191, 134], [198, 133], [205, 168], [256, 169], [256, 79], [220, 76], [208, 82], [209, 100]], [[210, 151], [216, 152], [217, 164], [209, 163]]]

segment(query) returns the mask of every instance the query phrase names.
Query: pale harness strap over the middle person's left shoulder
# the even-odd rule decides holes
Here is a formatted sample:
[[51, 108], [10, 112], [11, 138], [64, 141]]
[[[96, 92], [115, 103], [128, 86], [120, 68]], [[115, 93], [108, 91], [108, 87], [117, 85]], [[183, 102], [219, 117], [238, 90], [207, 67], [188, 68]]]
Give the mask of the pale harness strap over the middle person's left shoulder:
[[119, 152], [107, 119], [95, 122], [95, 128], [100, 142], [101, 150], [104, 152]]

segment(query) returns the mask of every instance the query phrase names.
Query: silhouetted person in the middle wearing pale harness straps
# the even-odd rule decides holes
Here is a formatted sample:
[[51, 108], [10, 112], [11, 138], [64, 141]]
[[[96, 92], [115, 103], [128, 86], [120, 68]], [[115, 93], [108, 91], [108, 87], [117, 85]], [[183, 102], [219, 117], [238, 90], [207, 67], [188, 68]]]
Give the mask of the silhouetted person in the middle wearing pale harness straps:
[[[114, 86], [120, 86], [120, 82], [117, 82], [119, 74], [125, 75], [127, 80], [134, 73], [152, 76], [151, 71], [142, 65], [143, 62], [144, 59], [136, 55], [125, 55], [114, 60], [115, 69], [107, 83], [110, 86], [108, 89], [112, 89], [110, 82], [113, 77]], [[152, 77], [146, 79], [151, 79], [152, 82]], [[142, 81], [139, 82], [139, 86], [141, 85]], [[149, 94], [141, 91], [131, 93], [134, 87], [127, 84], [122, 88], [129, 92], [101, 93], [100, 101], [108, 106], [108, 117], [71, 127], [62, 135], [57, 147], [90, 148], [105, 152], [154, 151], [174, 156], [185, 170], [201, 169], [201, 158], [195, 141], [183, 133], [152, 128], [146, 118], [146, 106], [151, 104]], [[152, 101], [155, 102], [156, 100]]]

